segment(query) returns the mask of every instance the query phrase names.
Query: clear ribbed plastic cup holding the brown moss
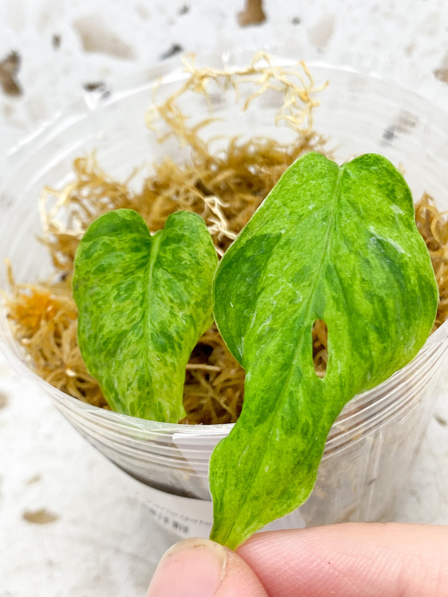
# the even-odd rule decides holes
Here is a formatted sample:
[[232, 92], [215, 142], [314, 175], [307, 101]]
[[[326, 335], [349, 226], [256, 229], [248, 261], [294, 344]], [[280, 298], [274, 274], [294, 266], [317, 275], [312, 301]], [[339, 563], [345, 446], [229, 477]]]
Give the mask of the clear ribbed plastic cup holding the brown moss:
[[[436, 90], [434, 101], [378, 76], [332, 66], [322, 57], [275, 52], [279, 63], [305, 58], [317, 83], [330, 81], [321, 93], [315, 128], [330, 137], [342, 162], [354, 155], [378, 152], [402, 165], [415, 200], [426, 190], [438, 207], [448, 209], [448, 113]], [[214, 56], [214, 66], [246, 64], [248, 52]], [[210, 60], [204, 60], [210, 64]], [[32, 282], [51, 271], [40, 231], [38, 196], [46, 184], [59, 186], [72, 177], [73, 158], [97, 151], [102, 167], [125, 177], [143, 161], [150, 164], [170, 153], [185, 156], [174, 142], [160, 146], [143, 124], [159, 76], [161, 91], [170, 93], [186, 74], [175, 61], [142, 73], [138, 81], [87, 94], [72, 111], [59, 116], [28, 139], [0, 164], [0, 261], [9, 257], [18, 281]], [[271, 96], [255, 109], [240, 113], [231, 92], [214, 94], [216, 115], [223, 121], [212, 134], [253, 134], [284, 139], [288, 131], [273, 127], [278, 109]], [[447, 104], [448, 105], [448, 104]], [[204, 100], [191, 99], [191, 109], [204, 113]], [[0, 269], [0, 287], [7, 287]], [[231, 424], [186, 426], [128, 417], [92, 407], [55, 389], [36, 376], [14, 341], [3, 309], [0, 347], [14, 368], [43, 387], [65, 417], [101, 453], [134, 479], [151, 512], [180, 536], [208, 536], [211, 501], [208, 460], [214, 445]], [[384, 383], [356, 396], [343, 408], [327, 438], [317, 482], [308, 501], [271, 528], [314, 526], [342, 521], [393, 518], [397, 494], [406, 483], [448, 361], [448, 322], [443, 324], [407, 367]]]

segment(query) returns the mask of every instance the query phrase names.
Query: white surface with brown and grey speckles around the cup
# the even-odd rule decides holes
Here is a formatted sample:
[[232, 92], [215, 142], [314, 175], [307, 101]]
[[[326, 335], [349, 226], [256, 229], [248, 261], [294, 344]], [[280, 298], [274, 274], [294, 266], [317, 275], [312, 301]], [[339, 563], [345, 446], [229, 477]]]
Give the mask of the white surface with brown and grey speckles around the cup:
[[[448, 79], [443, 0], [265, 0], [265, 23], [250, 27], [238, 25], [242, 9], [243, 0], [0, 0], [0, 60], [19, 52], [23, 91], [0, 90], [0, 152], [82, 85], [137, 73], [176, 46], [200, 54], [299, 42]], [[401, 496], [402, 521], [448, 524], [447, 398]], [[57, 520], [23, 519], [39, 508]], [[0, 597], [143, 597], [174, 540], [128, 496], [122, 473], [0, 358]]]

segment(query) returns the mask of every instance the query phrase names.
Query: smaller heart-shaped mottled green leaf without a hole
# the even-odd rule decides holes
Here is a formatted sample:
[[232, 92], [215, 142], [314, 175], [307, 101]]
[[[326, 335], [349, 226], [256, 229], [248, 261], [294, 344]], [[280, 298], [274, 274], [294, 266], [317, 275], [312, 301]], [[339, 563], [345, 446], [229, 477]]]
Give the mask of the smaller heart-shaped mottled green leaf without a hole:
[[151, 236], [133, 210], [91, 224], [75, 258], [78, 341], [113, 410], [177, 423], [185, 365], [213, 322], [217, 257], [204, 220], [179, 211]]

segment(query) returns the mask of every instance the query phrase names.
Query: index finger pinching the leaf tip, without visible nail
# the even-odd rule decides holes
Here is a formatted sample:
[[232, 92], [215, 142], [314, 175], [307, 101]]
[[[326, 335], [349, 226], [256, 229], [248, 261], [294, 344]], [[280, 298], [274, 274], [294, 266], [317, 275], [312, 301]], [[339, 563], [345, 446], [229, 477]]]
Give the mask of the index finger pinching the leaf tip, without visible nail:
[[447, 597], [448, 528], [338, 524], [273, 531], [237, 550], [269, 597]]

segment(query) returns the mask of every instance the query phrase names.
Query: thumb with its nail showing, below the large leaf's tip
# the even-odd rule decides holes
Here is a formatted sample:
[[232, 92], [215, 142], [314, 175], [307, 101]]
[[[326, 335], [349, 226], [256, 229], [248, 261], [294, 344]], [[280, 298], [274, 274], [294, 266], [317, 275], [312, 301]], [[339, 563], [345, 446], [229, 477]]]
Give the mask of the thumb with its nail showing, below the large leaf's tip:
[[235, 552], [208, 539], [185, 539], [162, 557], [147, 597], [268, 597]]

